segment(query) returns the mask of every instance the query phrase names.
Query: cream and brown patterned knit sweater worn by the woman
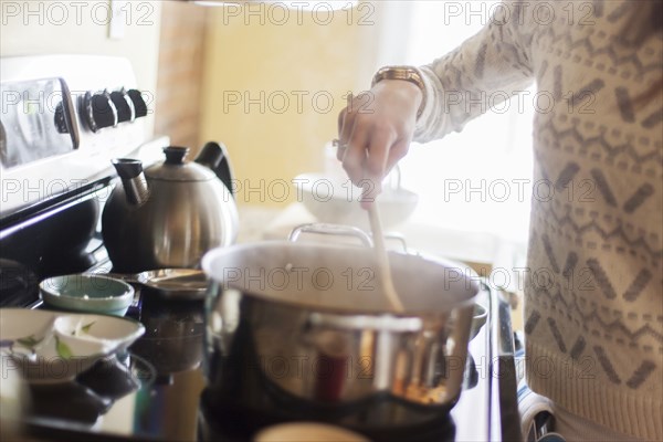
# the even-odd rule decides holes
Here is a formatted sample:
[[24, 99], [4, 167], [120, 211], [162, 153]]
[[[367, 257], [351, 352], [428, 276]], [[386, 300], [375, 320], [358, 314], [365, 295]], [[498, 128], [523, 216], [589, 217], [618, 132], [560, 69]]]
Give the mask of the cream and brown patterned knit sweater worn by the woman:
[[663, 39], [630, 43], [632, 8], [502, 3], [478, 34], [420, 67], [428, 99], [415, 139], [461, 130], [536, 83], [529, 386], [585, 419], [661, 441]]

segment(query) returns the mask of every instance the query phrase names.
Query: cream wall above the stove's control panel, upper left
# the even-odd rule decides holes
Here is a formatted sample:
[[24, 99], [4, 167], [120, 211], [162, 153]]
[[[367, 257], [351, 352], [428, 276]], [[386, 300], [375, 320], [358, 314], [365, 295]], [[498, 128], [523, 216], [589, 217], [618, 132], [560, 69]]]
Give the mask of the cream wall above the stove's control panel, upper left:
[[[109, 0], [0, 0], [0, 56], [125, 56], [134, 65], [138, 86], [156, 92], [161, 2], [129, 2], [122, 40], [108, 38], [109, 4]], [[152, 127], [152, 123], [147, 126]]]

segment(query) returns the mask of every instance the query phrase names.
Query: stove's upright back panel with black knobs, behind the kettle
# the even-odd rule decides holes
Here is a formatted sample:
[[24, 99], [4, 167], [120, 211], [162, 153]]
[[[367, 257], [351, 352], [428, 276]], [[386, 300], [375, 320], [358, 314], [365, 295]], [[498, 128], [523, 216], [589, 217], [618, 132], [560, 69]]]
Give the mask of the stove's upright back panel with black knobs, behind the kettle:
[[127, 60], [9, 57], [0, 78], [0, 306], [25, 306], [35, 280], [108, 265], [98, 221], [110, 159], [154, 164], [168, 139], [148, 138]]

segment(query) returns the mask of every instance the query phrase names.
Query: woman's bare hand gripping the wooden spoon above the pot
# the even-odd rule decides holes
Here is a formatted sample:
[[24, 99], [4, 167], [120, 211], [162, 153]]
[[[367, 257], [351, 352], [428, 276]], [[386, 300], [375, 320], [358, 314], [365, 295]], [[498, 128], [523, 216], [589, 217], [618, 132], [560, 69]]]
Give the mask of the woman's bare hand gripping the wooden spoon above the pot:
[[422, 98], [415, 84], [383, 80], [354, 97], [338, 115], [337, 156], [352, 183], [364, 189], [364, 208], [382, 191], [382, 179], [408, 152]]

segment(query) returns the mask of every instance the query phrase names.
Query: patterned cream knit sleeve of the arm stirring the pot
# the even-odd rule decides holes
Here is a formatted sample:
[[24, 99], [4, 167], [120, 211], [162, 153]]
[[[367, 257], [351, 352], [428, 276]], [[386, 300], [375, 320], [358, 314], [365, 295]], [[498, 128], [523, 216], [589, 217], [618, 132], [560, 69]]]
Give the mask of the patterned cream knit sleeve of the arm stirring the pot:
[[445, 56], [419, 67], [427, 103], [417, 122], [414, 140], [420, 143], [461, 131], [465, 123], [486, 113], [529, 86], [529, 56], [525, 7], [503, 1], [488, 23]]

